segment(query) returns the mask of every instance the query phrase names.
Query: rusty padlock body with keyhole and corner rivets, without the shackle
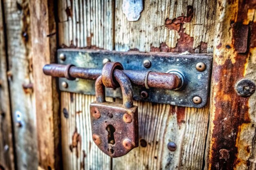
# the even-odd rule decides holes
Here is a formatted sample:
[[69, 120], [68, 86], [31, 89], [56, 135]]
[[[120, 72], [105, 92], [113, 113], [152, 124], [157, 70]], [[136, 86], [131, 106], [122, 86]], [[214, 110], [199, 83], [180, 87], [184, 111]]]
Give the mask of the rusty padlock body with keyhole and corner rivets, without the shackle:
[[92, 138], [110, 157], [121, 157], [138, 147], [138, 107], [115, 102], [90, 104]]

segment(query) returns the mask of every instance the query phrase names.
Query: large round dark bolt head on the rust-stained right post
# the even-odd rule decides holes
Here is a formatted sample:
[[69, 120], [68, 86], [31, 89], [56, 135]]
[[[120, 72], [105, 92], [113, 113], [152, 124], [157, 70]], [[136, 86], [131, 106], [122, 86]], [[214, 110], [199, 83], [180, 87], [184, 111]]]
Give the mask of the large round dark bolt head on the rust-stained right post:
[[238, 95], [249, 97], [255, 92], [256, 86], [250, 79], [241, 79], [236, 83], [235, 88]]

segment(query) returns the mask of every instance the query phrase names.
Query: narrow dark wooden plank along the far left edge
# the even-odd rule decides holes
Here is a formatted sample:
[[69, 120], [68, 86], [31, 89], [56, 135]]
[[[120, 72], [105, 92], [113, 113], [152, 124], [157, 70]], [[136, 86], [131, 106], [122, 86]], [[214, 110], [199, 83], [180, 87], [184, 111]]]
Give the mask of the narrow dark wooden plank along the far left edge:
[[14, 170], [12, 119], [2, 10], [0, 1], [0, 169]]

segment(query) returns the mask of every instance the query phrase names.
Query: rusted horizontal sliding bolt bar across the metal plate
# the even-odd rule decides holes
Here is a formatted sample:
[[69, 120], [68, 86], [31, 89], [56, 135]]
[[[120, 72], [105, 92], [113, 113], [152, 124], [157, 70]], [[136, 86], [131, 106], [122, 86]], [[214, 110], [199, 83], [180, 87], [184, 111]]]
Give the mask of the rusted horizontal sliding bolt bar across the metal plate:
[[[97, 79], [102, 70], [95, 68], [81, 68], [72, 65], [47, 64], [43, 68], [45, 75], [53, 77], [66, 77], [68, 79]], [[138, 86], [151, 88], [164, 88], [175, 90], [182, 85], [182, 79], [175, 73], [159, 73], [149, 71], [121, 70], [131, 81]], [[115, 73], [115, 71], [114, 71]]]

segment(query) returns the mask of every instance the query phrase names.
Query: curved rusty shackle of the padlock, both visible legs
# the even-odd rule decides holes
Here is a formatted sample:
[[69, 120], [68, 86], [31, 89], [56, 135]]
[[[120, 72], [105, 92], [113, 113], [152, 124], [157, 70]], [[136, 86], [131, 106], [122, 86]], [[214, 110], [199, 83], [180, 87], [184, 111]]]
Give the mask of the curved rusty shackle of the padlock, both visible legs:
[[[122, 95], [123, 95], [123, 107], [132, 108], [133, 106], [133, 93], [132, 93], [132, 84], [130, 79], [120, 70], [115, 69], [113, 75], [117, 82], [121, 86]], [[102, 83], [102, 77], [99, 76], [95, 82], [95, 91], [96, 91], [96, 101], [97, 103], [106, 102], [105, 100], [105, 86]]]

